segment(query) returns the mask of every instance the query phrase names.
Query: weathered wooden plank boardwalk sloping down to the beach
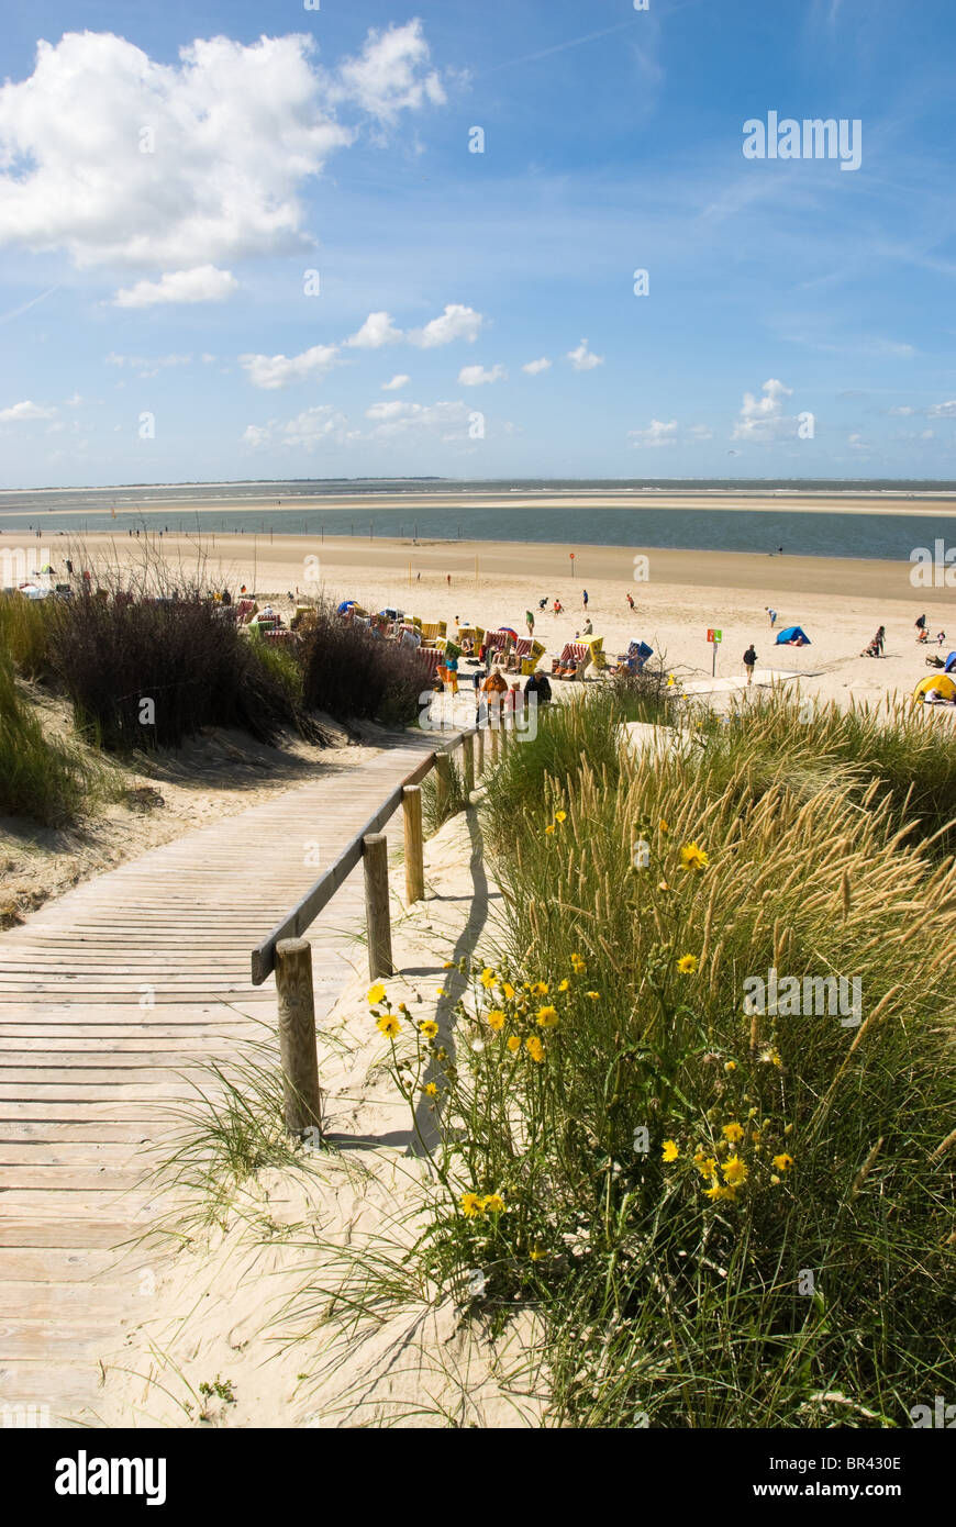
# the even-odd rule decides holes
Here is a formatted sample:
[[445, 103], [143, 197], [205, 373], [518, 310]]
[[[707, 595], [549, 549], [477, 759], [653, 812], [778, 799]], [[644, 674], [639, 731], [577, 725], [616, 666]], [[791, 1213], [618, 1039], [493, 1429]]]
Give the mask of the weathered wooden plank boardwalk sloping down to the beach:
[[[252, 947], [428, 751], [322, 773], [0, 935], [0, 1425], [20, 1406], [96, 1425], [99, 1354], [148, 1315], [157, 1252], [118, 1248], [156, 1219], [144, 1179], [170, 1104], [275, 1025]], [[402, 812], [388, 831], [400, 841]], [[359, 867], [308, 933], [319, 1019], [365, 959], [342, 933], [362, 928]]]

